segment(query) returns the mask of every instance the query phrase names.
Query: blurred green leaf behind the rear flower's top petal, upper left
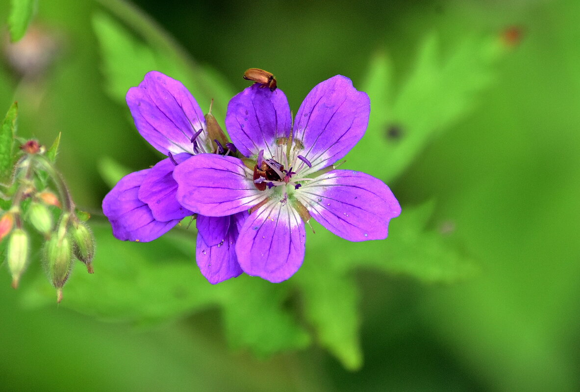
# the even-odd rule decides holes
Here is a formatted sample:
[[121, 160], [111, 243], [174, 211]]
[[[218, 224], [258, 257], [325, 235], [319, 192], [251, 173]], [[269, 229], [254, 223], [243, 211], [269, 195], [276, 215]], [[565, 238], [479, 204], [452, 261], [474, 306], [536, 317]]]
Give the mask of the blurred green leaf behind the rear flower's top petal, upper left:
[[147, 72], [157, 70], [180, 80], [202, 108], [209, 109], [213, 99], [213, 114], [223, 126], [227, 102], [234, 94], [216, 71], [184, 60], [157, 41], [146, 45], [106, 14], [93, 16], [93, 28], [101, 48], [107, 92], [112, 98], [125, 102], [127, 90], [137, 86]]

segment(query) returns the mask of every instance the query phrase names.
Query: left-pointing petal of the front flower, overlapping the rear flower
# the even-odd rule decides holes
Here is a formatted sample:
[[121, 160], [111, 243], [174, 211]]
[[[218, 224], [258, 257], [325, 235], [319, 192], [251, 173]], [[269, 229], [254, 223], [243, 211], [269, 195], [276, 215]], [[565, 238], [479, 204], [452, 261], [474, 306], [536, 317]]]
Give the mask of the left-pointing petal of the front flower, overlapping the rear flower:
[[232, 156], [193, 156], [173, 170], [173, 178], [177, 202], [207, 217], [249, 210], [268, 196], [254, 186], [253, 171]]

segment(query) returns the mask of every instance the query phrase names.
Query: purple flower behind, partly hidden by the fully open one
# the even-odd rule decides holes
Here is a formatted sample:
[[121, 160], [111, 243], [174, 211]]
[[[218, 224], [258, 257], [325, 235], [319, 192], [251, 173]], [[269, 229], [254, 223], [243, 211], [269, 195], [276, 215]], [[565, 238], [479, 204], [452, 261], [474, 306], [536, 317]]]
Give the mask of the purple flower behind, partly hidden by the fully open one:
[[[181, 82], [161, 72], [145, 75], [139, 86], [129, 89], [126, 100], [139, 133], [168, 157], [123, 177], [104, 197], [103, 213], [117, 239], [147, 242], [193, 215], [177, 202], [173, 170], [197, 153], [215, 152], [219, 141], [212, 141], [206, 132], [206, 120], [195, 98]], [[198, 215], [196, 260], [210, 283], [242, 273], [234, 244], [247, 215]]]

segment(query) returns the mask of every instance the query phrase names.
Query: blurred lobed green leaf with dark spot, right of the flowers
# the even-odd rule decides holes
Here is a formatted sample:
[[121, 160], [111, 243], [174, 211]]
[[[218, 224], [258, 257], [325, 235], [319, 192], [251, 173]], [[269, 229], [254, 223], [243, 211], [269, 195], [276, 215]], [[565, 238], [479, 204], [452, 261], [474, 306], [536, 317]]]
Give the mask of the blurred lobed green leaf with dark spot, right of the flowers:
[[420, 46], [413, 71], [396, 94], [390, 86], [391, 66], [383, 54], [371, 61], [363, 91], [371, 98], [367, 133], [351, 154], [351, 167], [372, 167], [389, 182], [413, 162], [425, 146], [470, 113], [477, 97], [494, 79], [502, 50], [496, 37], [467, 37], [441, 56], [435, 34]]

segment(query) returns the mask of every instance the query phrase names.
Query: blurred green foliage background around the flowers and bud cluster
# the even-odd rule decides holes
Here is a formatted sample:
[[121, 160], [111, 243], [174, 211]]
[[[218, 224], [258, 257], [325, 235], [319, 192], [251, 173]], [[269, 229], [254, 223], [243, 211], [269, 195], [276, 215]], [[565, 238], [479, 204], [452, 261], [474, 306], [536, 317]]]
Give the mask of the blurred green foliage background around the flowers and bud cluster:
[[[38, 263], [17, 291], [0, 270], [0, 389], [580, 390], [579, 2], [52, 0], [27, 46], [3, 29], [0, 110], [19, 102], [23, 137], [62, 132], [97, 257], [58, 306]], [[368, 244], [317, 226], [285, 283], [212, 286], [194, 230], [122, 243], [100, 203], [159, 159], [124, 104], [145, 72], [223, 123], [250, 67], [294, 112], [336, 74], [367, 91], [346, 166], [403, 214]]]

